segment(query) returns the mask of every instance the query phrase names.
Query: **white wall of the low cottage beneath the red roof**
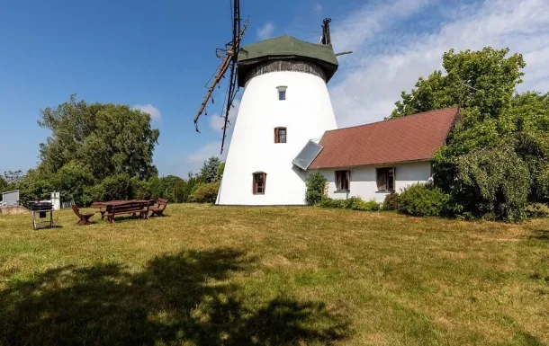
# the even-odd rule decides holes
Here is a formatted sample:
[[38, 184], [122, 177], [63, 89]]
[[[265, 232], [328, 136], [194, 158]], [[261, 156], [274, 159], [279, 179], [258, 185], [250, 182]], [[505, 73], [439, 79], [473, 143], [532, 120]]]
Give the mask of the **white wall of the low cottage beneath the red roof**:
[[[428, 182], [431, 177], [431, 163], [392, 164], [395, 167], [395, 191], [404, 191], [408, 186], [418, 182]], [[382, 203], [388, 192], [377, 191], [377, 176], [375, 169], [379, 167], [351, 168], [349, 191], [336, 192], [336, 171], [320, 170], [329, 182], [328, 196], [332, 199], [347, 199], [360, 197], [363, 200], [375, 200]]]

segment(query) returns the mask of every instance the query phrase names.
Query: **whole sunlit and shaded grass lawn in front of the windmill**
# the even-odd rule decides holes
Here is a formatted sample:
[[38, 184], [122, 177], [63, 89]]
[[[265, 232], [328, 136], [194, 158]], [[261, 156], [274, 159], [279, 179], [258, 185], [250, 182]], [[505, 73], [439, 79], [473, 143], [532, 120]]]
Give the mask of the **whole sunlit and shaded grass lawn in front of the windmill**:
[[0, 217], [0, 345], [544, 345], [549, 219], [168, 205]]

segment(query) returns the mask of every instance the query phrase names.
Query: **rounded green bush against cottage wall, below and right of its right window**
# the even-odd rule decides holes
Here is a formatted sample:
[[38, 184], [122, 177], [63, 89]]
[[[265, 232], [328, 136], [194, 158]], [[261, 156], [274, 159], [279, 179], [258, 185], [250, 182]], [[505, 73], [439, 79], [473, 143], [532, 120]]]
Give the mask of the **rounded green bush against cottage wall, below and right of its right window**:
[[413, 184], [400, 196], [399, 210], [414, 217], [437, 217], [445, 208], [446, 195], [432, 184]]

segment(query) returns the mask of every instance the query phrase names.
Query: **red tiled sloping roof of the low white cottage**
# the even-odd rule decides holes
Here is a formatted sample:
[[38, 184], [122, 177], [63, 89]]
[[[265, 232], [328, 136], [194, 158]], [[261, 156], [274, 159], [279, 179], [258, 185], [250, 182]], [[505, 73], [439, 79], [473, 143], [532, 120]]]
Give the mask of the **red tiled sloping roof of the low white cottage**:
[[458, 113], [446, 108], [327, 131], [309, 169], [430, 160], [445, 145]]

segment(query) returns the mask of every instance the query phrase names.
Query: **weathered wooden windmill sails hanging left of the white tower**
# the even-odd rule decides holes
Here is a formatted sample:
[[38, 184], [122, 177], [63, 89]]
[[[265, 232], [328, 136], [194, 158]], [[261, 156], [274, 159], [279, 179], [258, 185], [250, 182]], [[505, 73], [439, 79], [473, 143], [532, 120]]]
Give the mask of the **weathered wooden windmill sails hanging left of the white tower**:
[[[211, 99], [211, 103], [213, 103], [213, 97], [212, 97], [213, 91], [215, 90], [216, 86], [220, 84], [221, 79], [225, 78], [225, 74], [227, 73], [227, 71], [230, 70], [226, 101], [223, 107], [224, 123], [222, 128], [223, 138], [221, 141], [221, 152], [220, 152], [221, 154], [223, 153], [223, 147], [225, 146], [227, 129], [230, 125], [229, 111], [233, 107], [233, 102], [238, 93], [238, 85], [237, 85], [238, 50], [240, 49], [240, 42], [242, 41], [244, 33], [247, 30], [247, 24], [249, 22], [249, 20], [247, 20], [244, 23], [244, 26], [241, 25], [242, 20], [240, 18], [240, 1], [239, 0], [232, 0], [231, 16], [232, 16], [232, 40], [225, 45], [225, 49], [216, 49], [216, 56], [218, 58], [221, 58], [220, 67], [215, 72], [213, 81], [211, 82], [210, 87], [208, 88], [208, 91], [206, 92], [206, 95], [202, 100], [202, 104], [200, 105], [200, 108], [196, 113], [196, 116], [194, 117], [194, 128], [196, 129], [196, 132], [200, 133], [200, 130], [198, 129], [198, 120], [200, 119], [200, 116], [202, 115], [202, 113], [206, 111], [206, 106], [210, 101], [210, 99]], [[207, 115], [207, 112], [205, 114]]]

